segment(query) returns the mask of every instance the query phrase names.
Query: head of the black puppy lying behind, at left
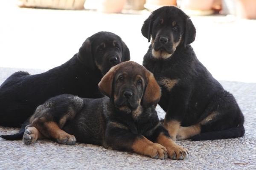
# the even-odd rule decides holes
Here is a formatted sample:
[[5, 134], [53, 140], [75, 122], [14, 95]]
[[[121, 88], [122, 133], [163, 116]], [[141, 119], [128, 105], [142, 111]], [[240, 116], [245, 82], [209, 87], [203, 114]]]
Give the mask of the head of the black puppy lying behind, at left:
[[77, 57], [91, 70], [98, 68], [105, 75], [114, 65], [130, 60], [130, 51], [118, 35], [102, 31], [85, 40]]

